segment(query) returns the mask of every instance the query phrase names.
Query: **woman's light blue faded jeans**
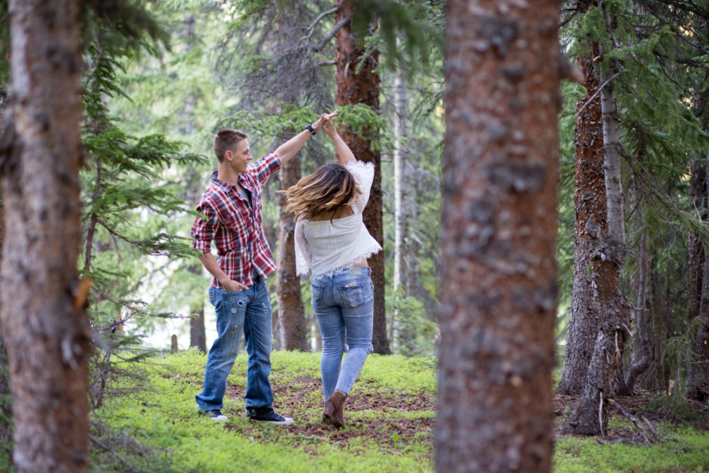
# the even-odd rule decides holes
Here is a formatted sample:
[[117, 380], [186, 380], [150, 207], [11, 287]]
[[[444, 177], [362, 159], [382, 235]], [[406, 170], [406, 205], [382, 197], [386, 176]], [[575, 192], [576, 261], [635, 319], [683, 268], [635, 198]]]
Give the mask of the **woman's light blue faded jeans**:
[[[313, 310], [323, 338], [320, 372], [325, 399], [335, 389], [350, 394], [367, 355], [372, 352], [374, 286], [371, 271], [366, 266], [354, 266], [340, 269], [331, 276], [311, 279]], [[350, 349], [342, 362], [345, 333]]]

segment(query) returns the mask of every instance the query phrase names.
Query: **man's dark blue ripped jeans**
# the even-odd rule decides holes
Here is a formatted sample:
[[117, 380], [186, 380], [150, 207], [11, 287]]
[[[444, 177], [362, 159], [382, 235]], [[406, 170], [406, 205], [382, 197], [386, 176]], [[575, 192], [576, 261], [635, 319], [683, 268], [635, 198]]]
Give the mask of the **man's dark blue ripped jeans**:
[[246, 380], [246, 408], [271, 407], [271, 302], [264, 279], [249, 289], [225, 291], [209, 288], [209, 301], [217, 315], [218, 337], [214, 340], [204, 372], [203, 391], [197, 394], [201, 411], [221, 409], [226, 379], [239, 351], [241, 333], [249, 355]]

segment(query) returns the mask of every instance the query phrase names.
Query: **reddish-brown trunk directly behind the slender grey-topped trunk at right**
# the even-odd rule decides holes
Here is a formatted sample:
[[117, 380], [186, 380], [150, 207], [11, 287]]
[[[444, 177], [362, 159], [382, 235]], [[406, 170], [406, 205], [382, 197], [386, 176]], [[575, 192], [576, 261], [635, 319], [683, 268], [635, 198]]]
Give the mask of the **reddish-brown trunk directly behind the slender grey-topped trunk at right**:
[[[586, 7], [587, 8], [587, 7]], [[592, 56], [598, 44], [591, 45]], [[593, 72], [593, 58], [581, 57], [579, 67], [586, 79], [586, 96], [576, 104], [576, 184], [574, 213], [574, 293], [571, 318], [566, 336], [564, 374], [558, 394], [581, 394], [586, 381], [593, 344], [598, 333], [598, 313], [593, 304], [593, 280], [588, 271], [593, 240], [605, 232], [605, 177], [603, 172], [603, 128], [598, 78]], [[593, 97], [593, 99], [591, 99]]]

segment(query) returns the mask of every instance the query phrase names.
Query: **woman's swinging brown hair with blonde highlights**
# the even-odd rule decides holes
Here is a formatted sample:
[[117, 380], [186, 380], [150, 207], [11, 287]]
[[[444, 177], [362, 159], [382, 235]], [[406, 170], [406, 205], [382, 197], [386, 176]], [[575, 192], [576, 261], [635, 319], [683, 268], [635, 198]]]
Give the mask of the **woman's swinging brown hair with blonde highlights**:
[[332, 221], [338, 208], [351, 206], [362, 194], [352, 174], [337, 163], [324, 165], [298, 184], [279, 192], [286, 194], [286, 211], [295, 213], [296, 218], [311, 221], [327, 216]]

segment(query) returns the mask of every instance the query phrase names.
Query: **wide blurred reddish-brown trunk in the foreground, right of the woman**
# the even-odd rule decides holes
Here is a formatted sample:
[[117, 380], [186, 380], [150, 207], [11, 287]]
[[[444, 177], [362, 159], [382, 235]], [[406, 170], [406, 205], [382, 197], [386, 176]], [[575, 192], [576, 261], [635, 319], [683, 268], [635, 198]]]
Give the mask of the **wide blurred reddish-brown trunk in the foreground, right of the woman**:
[[559, 4], [448, 4], [439, 472], [551, 468]]

